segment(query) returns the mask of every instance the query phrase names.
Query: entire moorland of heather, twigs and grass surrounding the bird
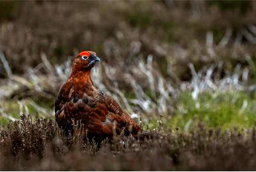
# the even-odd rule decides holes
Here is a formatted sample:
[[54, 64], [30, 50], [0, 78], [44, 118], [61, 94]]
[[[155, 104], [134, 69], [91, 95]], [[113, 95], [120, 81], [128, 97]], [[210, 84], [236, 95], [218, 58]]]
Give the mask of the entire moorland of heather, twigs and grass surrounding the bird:
[[[1, 170], [255, 170], [255, 1], [1, 1]], [[150, 140], [67, 138], [73, 55]]]

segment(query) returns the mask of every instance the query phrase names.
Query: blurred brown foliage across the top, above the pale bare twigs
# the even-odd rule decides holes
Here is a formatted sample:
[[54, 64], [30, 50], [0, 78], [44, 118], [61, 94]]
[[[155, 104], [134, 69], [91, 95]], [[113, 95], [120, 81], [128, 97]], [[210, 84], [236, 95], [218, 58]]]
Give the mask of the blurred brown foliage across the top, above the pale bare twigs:
[[[42, 53], [60, 64], [84, 49], [124, 69], [151, 54], [163, 74], [170, 63], [182, 80], [190, 77], [188, 63], [200, 69], [226, 58], [246, 63], [240, 54], [255, 55], [241, 34], [255, 24], [255, 1], [1, 1], [0, 7], [0, 49], [18, 74], [40, 64]], [[218, 42], [229, 29], [230, 47], [223, 49]], [[216, 58], [204, 49], [208, 31]]]

